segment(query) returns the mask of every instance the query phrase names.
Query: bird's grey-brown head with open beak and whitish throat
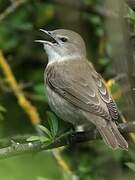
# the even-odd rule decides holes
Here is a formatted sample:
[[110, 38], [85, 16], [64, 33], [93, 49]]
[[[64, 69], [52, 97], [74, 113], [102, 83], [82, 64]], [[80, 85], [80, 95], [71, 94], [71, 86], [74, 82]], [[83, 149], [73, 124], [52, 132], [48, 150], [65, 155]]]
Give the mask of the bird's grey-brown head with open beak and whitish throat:
[[49, 40], [36, 40], [36, 42], [43, 43], [49, 63], [86, 57], [85, 43], [78, 33], [65, 29], [40, 30], [50, 37]]

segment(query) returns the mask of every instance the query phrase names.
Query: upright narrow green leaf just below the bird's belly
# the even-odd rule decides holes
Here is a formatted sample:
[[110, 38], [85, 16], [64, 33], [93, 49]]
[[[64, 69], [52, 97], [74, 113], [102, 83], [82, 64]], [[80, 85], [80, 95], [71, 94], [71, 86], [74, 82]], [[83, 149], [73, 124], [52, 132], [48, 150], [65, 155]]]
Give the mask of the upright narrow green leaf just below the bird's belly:
[[50, 126], [52, 136], [55, 137], [57, 135], [57, 132], [58, 132], [58, 119], [50, 111], [47, 111], [47, 117], [48, 117], [48, 123], [49, 123], [49, 126]]

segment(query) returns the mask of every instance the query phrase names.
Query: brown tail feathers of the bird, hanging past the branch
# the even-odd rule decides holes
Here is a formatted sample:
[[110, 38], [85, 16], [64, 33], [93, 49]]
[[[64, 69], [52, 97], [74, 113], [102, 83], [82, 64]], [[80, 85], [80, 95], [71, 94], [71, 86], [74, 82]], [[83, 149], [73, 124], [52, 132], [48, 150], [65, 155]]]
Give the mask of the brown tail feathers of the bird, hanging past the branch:
[[101, 134], [104, 142], [113, 149], [122, 148], [127, 150], [128, 143], [124, 137], [120, 134], [116, 124], [114, 122], [108, 122], [103, 126], [97, 126], [99, 133]]

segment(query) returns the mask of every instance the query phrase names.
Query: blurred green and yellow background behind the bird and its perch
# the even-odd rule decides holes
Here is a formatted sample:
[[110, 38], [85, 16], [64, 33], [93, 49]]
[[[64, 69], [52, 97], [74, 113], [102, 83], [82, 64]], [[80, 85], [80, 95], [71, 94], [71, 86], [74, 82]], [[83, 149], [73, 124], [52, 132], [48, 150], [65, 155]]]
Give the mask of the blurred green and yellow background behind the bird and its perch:
[[[131, 7], [124, 0], [0, 0], [0, 148], [37, 135], [37, 123], [50, 128], [50, 114], [52, 122], [58, 120], [44, 88], [47, 55], [34, 42], [44, 39], [40, 28], [80, 33], [124, 120], [135, 119], [135, 3], [128, 3]], [[69, 129], [58, 120], [57, 134]], [[95, 140], [2, 159], [0, 180], [133, 180], [135, 138], [126, 138], [129, 151], [113, 151]]]

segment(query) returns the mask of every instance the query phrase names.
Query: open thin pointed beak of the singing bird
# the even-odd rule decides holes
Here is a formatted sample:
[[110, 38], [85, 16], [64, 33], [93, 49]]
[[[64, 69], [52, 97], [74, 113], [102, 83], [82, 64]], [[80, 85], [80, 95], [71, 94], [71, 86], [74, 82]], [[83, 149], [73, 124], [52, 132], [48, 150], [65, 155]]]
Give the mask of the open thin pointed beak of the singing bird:
[[50, 31], [46, 31], [44, 29], [40, 29], [40, 31], [44, 32], [45, 34], [48, 35], [49, 40], [35, 40], [35, 42], [39, 42], [39, 43], [43, 43], [43, 44], [48, 44], [48, 45], [52, 45], [54, 43], [57, 43], [56, 38], [53, 36], [53, 34]]

